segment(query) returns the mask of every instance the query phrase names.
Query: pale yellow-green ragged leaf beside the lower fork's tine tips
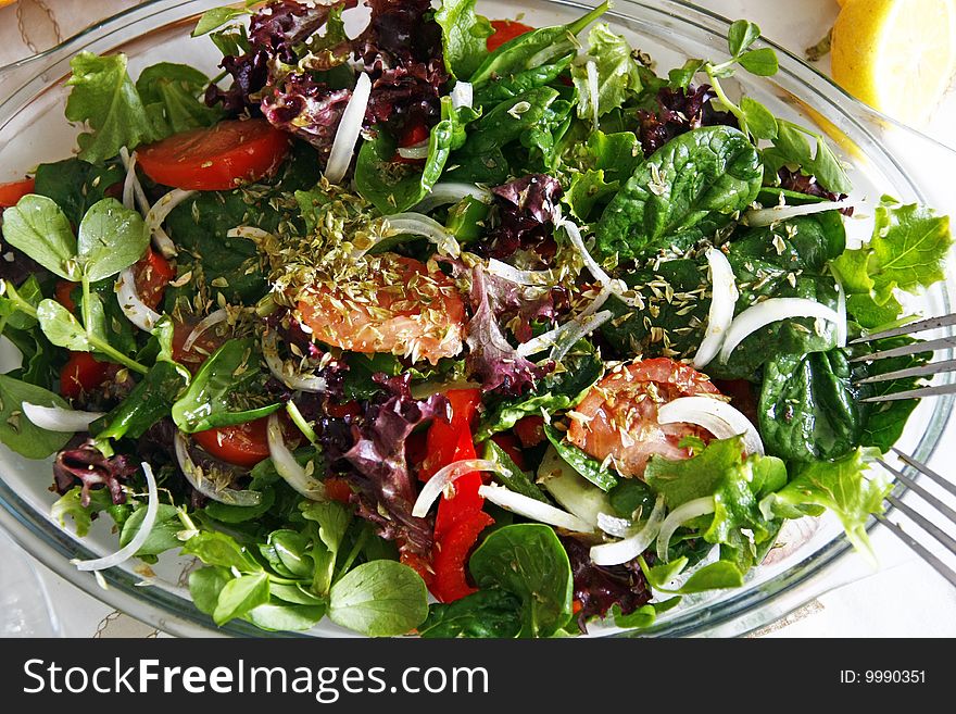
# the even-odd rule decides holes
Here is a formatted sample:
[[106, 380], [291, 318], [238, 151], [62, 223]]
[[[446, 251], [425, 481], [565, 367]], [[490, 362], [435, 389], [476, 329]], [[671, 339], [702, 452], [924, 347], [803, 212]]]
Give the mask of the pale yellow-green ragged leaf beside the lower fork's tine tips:
[[889, 479], [869, 472], [866, 460], [877, 455], [873, 451], [857, 449], [835, 461], [804, 465], [784, 488], [767, 496], [760, 509], [784, 517], [793, 517], [787, 506], [812, 514], [818, 513], [819, 506], [829, 509], [840, 518], [854, 548], [872, 559], [866, 524], [870, 515], [884, 511], [883, 499], [892, 490]]

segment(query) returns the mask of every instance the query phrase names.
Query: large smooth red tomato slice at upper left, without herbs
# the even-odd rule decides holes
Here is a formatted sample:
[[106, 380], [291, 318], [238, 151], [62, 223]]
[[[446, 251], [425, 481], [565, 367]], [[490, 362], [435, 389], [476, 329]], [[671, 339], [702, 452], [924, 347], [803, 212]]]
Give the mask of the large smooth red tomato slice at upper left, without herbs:
[[236, 188], [268, 175], [289, 151], [289, 136], [264, 118], [219, 122], [140, 147], [139, 165], [158, 184], [200, 191]]

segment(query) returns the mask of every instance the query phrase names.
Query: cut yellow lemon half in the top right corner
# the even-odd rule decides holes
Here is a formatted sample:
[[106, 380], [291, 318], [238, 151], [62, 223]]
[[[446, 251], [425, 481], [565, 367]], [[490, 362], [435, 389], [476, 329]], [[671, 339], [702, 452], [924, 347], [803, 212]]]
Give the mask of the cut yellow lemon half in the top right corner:
[[926, 122], [956, 71], [956, 0], [843, 0], [833, 79], [905, 124]]

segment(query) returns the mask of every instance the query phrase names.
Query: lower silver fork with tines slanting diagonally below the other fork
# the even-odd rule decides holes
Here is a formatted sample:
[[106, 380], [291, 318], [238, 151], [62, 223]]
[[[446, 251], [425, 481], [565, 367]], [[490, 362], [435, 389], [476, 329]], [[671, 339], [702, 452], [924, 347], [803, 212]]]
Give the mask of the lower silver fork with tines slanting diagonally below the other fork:
[[[896, 455], [905, 464], [911, 466], [921, 475], [926, 476], [928, 479], [930, 479], [941, 488], [945, 489], [949, 494], [956, 497], [956, 484], [948, 480], [947, 478], [944, 478], [926, 464], [918, 462], [916, 459], [903, 453], [898, 449], [894, 448], [893, 451], [896, 452]], [[919, 496], [923, 501], [934, 508], [940, 516], [948, 522], [948, 527], [951, 529], [954, 528], [954, 524], [956, 524], [956, 511], [954, 511], [951, 506], [941, 501], [936, 496], [928, 491], [923, 486], [904, 474], [901, 469], [891, 466], [882, 459], [878, 459], [877, 463], [889, 471], [891, 474], [893, 474], [893, 476], [895, 476], [901, 484], [906, 486], [907, 489]], [[923, 515], [911, 505], [895, 496], [888, 496], [886, 503], [908, 516], [917, 526], [919, 526], [927, 534], [932, 536], [947, 551], [956, 555], [956, 537], [954, 537], [951, 533], [943, 530], [943, 528], [940, 527], [938, 524], [933, 523], [926, 515]], [[953, 587], [956, 587], [956, 571], [954, 571], [942, 560], [940, 560], [932, 551], [930, 551], [929, 548], [917, 540], [913, 536], [913, 534], [904, 530], [903, 526], [901, 526], [898, 522], [894, 523], [893, 521], [890, 521], [886, 514], [879, 514], [876, 516], [876, 518], [881, 524], [883, 524], [890, 530], [890, 533], [900, 538], [910, 550], [919, 555], [930, 567], [932, 567], [936, 573], [946, 578], [949, 584], [953, 585]]]

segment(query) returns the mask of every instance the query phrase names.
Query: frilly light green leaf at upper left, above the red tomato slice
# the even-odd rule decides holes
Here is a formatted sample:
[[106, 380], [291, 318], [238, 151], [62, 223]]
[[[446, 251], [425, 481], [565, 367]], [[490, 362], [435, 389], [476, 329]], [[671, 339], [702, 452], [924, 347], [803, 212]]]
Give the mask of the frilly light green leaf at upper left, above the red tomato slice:
[[79, 158], [97, 163], [130, 151], [140, 143], [163, 138], [149, 121], [136, 87], [126, 73], [126, 55], [97, 57], [80, 52], [70, 61], [73, 89], [66, 100], [66, 118], [86, 122], [91, 131], [80, 134]]

